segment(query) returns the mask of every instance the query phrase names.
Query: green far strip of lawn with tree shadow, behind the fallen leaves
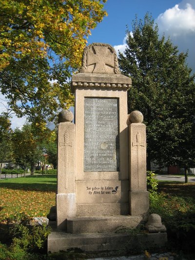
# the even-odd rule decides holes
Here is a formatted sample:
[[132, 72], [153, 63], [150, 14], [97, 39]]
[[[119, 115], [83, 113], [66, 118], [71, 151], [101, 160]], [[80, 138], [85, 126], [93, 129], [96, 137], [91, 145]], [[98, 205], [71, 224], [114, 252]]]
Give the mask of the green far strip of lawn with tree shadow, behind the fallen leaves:
[[6, 179], [0, 182], [0, 188], [24, 191], [55, 192], [57, 188], [57, 180], [53, 180], [54, 178], [56, 178], [56, 175], [26, 176], [22, 179]]

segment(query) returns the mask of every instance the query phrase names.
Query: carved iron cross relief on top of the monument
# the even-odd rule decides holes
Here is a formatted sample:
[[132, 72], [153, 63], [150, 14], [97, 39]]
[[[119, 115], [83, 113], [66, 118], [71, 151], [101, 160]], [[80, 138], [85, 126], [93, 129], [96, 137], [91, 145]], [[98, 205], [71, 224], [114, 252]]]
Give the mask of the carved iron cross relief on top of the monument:
[[114, 53], [107, 46], [93, 46], [93, 50], [87, 52], [87, 66], [95, 64], [93, 73], [108, 73], [106, 64], [114, 67]]

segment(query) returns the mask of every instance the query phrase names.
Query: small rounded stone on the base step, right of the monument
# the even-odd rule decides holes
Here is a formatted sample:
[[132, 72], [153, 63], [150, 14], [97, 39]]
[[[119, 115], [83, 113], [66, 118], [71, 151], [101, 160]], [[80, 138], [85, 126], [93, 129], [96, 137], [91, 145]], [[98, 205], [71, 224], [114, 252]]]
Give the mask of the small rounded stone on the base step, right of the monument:
[[166, 232], [166, 227], [161, 222], [161, 217], [158, 214], [151, 214], [145, 228], [150, 232]]

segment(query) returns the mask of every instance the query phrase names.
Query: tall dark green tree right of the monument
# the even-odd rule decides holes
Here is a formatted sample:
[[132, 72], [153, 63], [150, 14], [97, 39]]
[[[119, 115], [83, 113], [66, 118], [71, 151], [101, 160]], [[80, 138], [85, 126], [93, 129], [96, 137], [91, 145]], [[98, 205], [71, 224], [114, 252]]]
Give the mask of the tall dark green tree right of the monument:
[[147, 13], [127, 30], [127, 47], [119, 54], [123, 74], [132, 78], [128, 111], [139, 110], [147, 125], [147, 168], [195, 165], [195, 75], [170, 39], [159, 39], [158, 27]]

